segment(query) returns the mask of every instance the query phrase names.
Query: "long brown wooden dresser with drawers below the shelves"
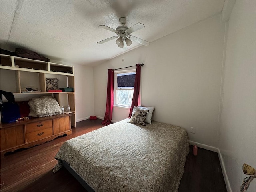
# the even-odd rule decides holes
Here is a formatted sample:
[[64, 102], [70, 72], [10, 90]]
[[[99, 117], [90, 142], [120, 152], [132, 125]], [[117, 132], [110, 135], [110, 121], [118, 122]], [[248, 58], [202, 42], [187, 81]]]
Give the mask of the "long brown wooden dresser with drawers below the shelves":
[[43, 144], [62, 135], [71, 135], [70, 114], [32, 118], [1, 124], [1, 155], [20, 148]]

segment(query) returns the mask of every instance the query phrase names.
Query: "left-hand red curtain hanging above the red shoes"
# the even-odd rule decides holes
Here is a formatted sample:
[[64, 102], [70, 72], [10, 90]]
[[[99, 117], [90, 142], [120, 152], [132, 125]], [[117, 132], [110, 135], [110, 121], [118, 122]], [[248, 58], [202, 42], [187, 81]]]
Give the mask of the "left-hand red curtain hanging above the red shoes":
[[101, 122], [102, 125], [111, 124], [112, 112], [114, 106], [114, 70], [108, 70], [108, 88], [107, 88], [107, 104], [104, 120]]

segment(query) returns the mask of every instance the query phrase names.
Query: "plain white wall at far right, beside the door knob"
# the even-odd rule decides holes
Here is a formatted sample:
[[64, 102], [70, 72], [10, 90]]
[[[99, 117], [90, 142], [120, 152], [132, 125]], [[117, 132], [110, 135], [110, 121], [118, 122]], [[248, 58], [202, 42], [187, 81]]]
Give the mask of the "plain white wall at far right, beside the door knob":
[[[243, 163], [256, 168], [255, 10], [255, 1], [236, 1], [228, 27], [219, 149], [234, 192]], [[256, 179], [247, 191], [256, 191]]]

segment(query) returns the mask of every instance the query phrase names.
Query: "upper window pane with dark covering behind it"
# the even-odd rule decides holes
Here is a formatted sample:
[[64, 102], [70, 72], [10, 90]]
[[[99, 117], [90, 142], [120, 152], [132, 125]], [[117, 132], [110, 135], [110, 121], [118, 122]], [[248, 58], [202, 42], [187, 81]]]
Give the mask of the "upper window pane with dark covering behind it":
[[117, 74], [117, 88], [134, 88], [136, 72], [118, 73]]

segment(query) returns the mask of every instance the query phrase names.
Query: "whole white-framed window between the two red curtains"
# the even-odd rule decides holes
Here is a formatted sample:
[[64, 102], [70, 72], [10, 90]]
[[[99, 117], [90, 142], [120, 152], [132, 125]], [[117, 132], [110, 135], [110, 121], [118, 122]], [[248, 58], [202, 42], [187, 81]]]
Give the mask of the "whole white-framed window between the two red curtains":
[[130, 107], [136, 70], [114, 72], [114, 105]]

